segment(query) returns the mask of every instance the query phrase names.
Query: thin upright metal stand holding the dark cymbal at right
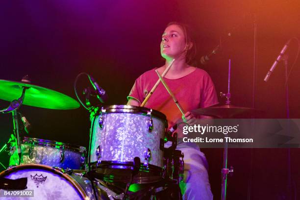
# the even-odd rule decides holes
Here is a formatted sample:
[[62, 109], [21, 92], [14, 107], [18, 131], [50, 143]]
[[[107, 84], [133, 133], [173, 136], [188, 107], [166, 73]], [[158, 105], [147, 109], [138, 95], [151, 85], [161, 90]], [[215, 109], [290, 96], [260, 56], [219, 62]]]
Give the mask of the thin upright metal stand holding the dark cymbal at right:
[[[221, 96], [226, 97], [226, 104], [230, 104], [230, 70], [231, 70], [231, 60], [228, 62], [228, 90], [227, 94], [220, 93]], [[229, 116], [223, 116], [223, 118], [229, 118]], [[221, 192], [221, 200], [226, 200], [226, 192], [227, 192], [227, 175], [232, 175], [233, 167], [227, 169], [227, 151], [228, 144], [227, 141], [224, 140], [224, 152], [223, 152], [223, 168], [222, 168], [222, 192]]]

